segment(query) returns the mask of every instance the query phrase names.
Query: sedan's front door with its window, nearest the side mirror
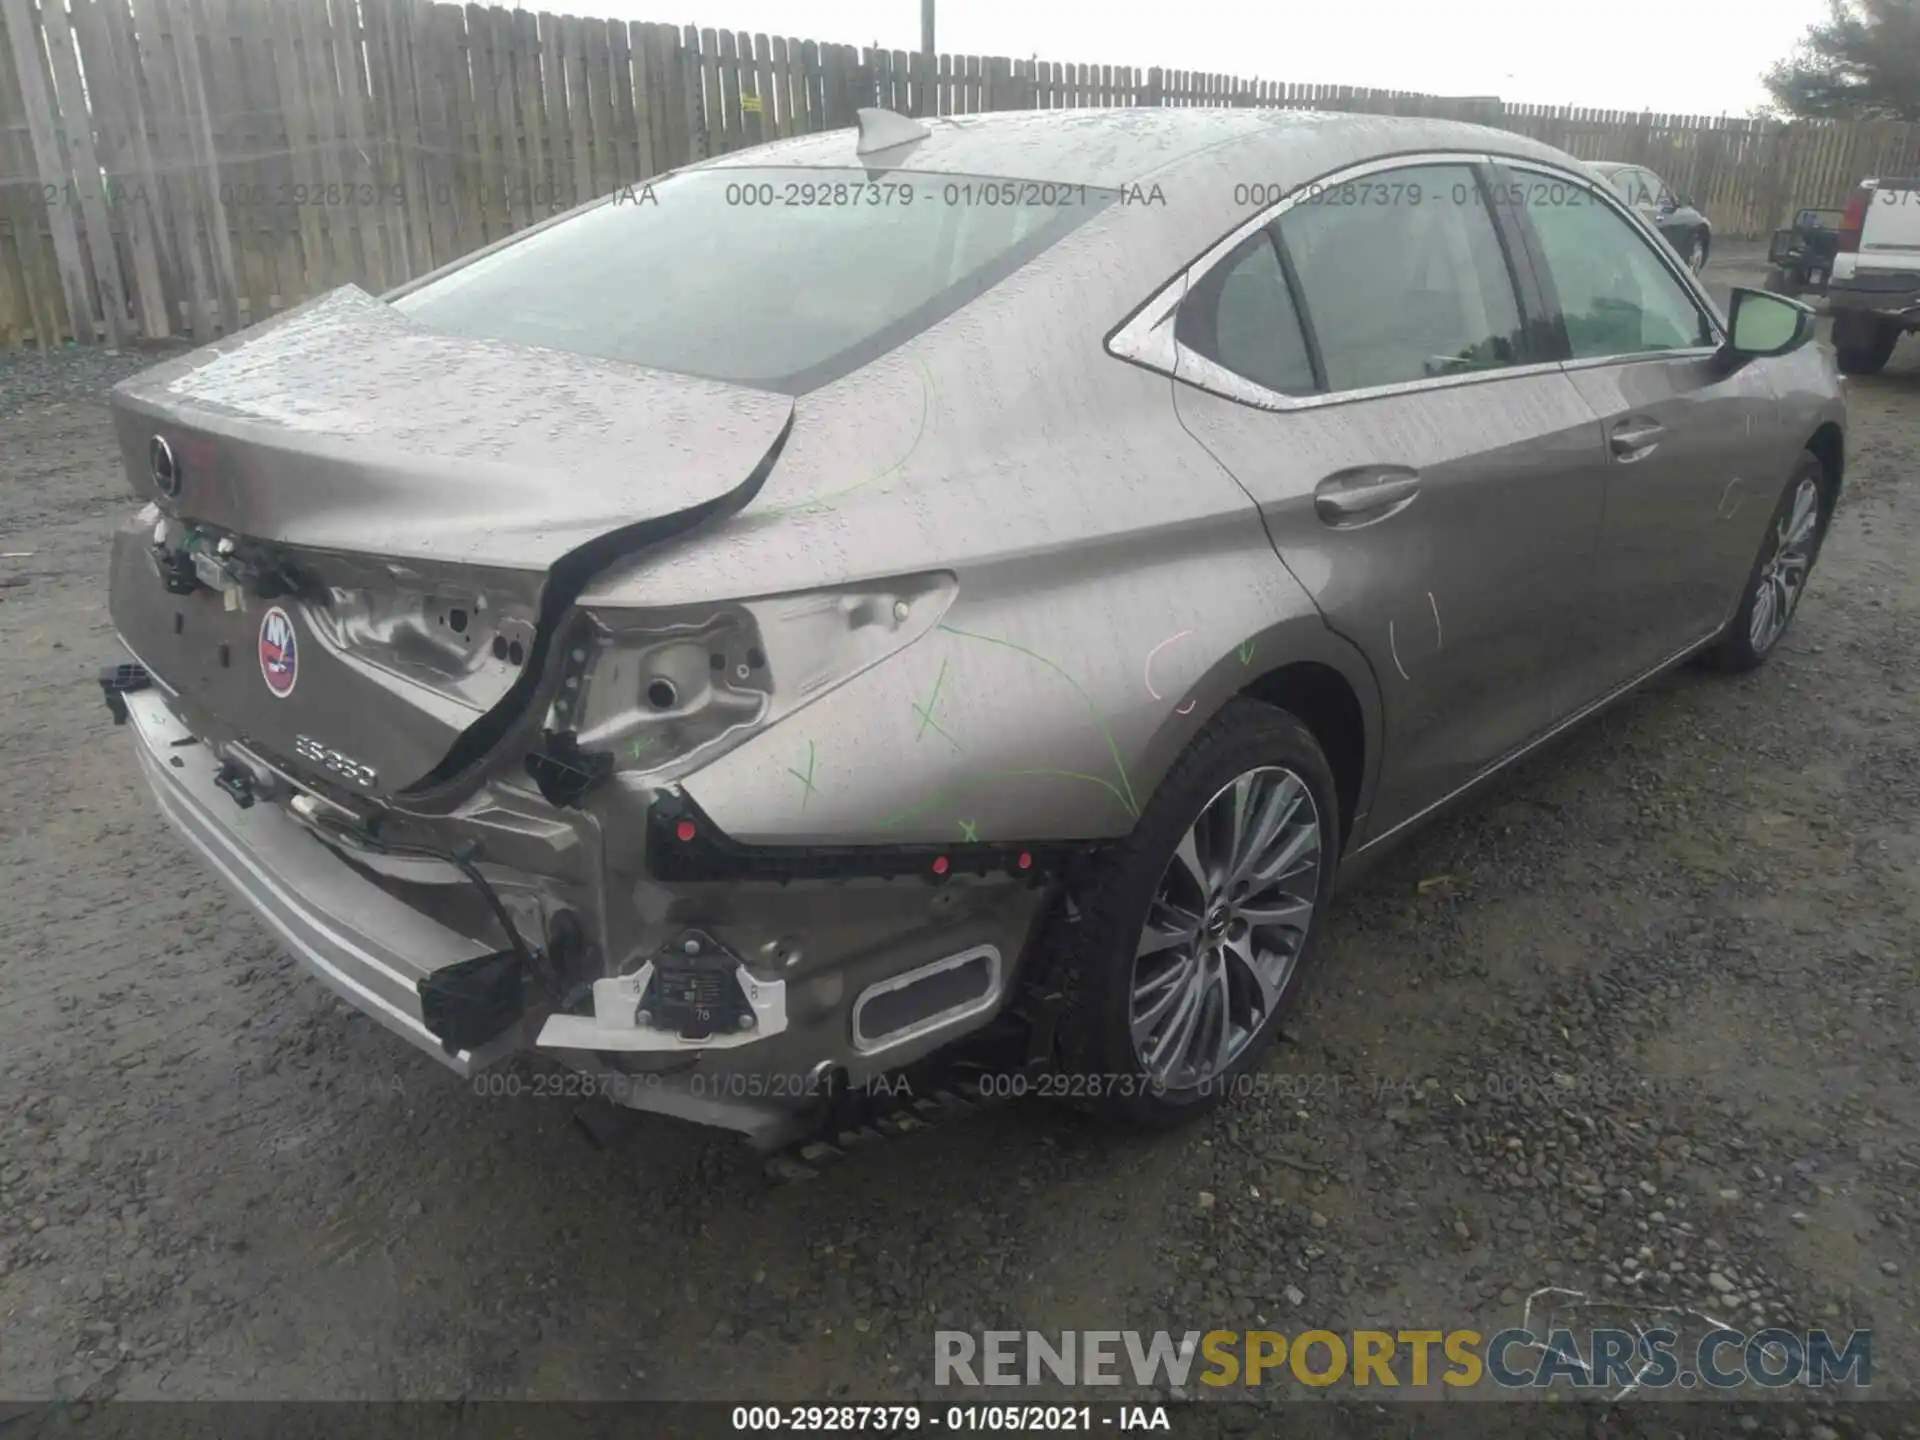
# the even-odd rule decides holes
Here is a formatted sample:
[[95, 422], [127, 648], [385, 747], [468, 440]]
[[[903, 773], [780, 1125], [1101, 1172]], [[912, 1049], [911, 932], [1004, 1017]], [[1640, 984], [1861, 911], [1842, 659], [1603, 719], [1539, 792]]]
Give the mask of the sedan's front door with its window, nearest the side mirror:
[[1528, 248], [1567, 378], [1599, 417], [1607, 509], [1594, 586], [1565, 639], [1592, 664], [1574, 708], [1705, 639], [1732, 612], [1757, 513], [1778, 497], [1776, 403], [1764, 367], [1715, 363], [1720, 323], [1667, 246], [1603, 186], [1513, 163], [1503, 194]]

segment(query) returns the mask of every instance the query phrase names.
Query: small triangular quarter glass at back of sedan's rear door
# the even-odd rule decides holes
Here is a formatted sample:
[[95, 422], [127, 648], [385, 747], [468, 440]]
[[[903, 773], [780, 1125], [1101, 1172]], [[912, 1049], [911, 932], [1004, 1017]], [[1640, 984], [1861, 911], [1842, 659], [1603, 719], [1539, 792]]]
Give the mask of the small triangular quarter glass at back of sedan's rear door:
[[1281, 257], [1265, 230], [1242, 240], [1202, 276], [1181, 301], [1173, 338], [1283, 396], [1311, 396], [1319, 388]]

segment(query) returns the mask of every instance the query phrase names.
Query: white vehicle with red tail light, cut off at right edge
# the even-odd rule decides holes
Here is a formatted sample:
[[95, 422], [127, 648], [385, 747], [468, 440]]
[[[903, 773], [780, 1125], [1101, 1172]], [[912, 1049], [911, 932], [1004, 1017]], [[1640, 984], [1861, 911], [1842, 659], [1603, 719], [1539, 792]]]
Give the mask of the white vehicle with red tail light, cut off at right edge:
[[1839, 221], [1828, 282], [1843, 374], [1876, 374], [1920, 330], [1920, 180], [1860, 180]]

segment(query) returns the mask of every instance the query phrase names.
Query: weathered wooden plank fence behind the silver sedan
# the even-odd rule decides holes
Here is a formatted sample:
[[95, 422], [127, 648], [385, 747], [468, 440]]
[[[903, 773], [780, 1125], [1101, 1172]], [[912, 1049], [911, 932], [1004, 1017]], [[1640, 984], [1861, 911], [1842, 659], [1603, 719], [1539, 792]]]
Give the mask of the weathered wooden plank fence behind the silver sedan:
[[232, 332], [444, 265], [693, 157], [852, 123], [1077, 106], [1476, 119], [1690, 192], [1722, 234], [1912, 173], [1920, 127], [1749, 123], [424, 0], [0, 0], [0, 344]]

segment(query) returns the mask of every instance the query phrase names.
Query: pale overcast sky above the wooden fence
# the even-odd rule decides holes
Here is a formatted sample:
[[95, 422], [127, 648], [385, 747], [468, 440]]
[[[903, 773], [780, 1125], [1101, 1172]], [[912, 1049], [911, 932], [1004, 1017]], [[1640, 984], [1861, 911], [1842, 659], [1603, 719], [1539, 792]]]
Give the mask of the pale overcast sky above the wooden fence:
[[[530, 10], [559, 10], [534, 0]], [[920, 0], [568, 0], [570, 13], [920, 48]], [[1743, 115], [1824, 0], [939, 0], [945, 52]]]

